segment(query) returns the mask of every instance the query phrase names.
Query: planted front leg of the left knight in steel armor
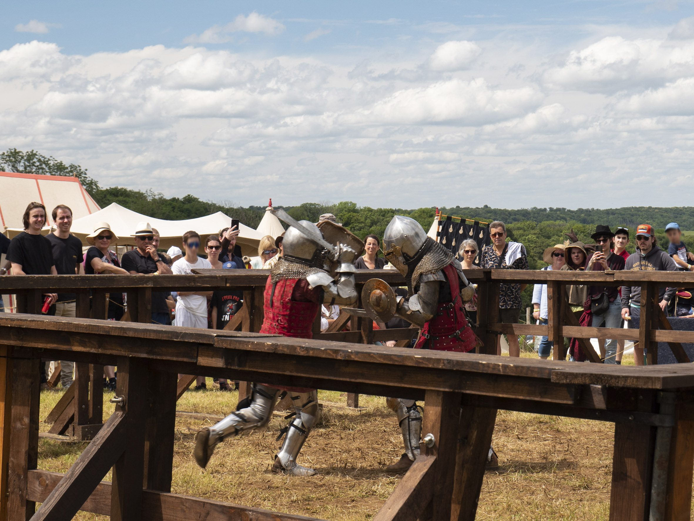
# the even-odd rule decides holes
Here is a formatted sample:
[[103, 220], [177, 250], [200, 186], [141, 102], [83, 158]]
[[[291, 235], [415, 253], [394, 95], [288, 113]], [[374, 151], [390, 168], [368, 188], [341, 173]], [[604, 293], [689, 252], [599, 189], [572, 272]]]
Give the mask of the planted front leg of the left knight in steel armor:
[[[318, 414], [318, 392], [292, 392], [296, 416], [286, 429], [285, 443], [275, 458], [273, 470], [284, 472], [291, 476], [313, 476], [317, 474], [312, 468], [303, 467], [296, 463], [301, 447], [310, 433], [316, 415]], [[281, 435], [280, 435], [281, 436]]]

